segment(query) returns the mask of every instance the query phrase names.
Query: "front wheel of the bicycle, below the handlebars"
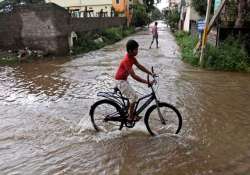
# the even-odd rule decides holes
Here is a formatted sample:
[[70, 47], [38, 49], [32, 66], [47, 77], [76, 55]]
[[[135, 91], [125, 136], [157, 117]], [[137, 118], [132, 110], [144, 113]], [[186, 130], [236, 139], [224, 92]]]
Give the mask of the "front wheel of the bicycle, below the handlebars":
[[159, 103], [159, 110], [156, 105], [147, 110], [144, 122], [151, 135], [178, 134], [182, 126], [182, 117], [174, 106]]

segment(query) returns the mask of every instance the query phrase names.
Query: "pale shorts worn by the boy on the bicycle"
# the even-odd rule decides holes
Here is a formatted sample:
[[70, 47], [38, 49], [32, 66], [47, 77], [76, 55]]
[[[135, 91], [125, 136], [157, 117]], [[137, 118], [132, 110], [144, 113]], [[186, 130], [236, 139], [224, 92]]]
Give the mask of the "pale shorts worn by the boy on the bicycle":
[[126, 80], [116, 80], [116, 86], [120, 89], [122, 95], [130, 100], [130, 103], [135, 103], [138, 100], [135, 90]]

